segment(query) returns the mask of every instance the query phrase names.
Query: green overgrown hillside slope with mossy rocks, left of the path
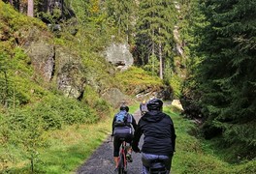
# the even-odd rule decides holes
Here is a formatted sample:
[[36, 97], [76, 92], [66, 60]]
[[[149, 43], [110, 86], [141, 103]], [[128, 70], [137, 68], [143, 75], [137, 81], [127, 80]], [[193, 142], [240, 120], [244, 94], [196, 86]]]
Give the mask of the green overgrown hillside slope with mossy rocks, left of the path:
[[[127, 84], [118, 78], [122, 73], [102, 56], [109, 43], [117, 42], [112, 41], [112, 30], [77, 24], [73, 35], [68, 24], [60, 33], [52, 33], [40, 19], [17, 13], [0, 1], [0, 164], [4, 168], [27, 164], [24, 161], [33, 164], [39, 148], [49, 146], [46, 134], [51, 131], [109, 119], [120, 101], [133, 102], [137, 92], [125, 95], [133, 79]], [[139, 70], [132, 73], [146, 74]], [[157, 79], [142, 76], [147, 78], [142, 88]], [[153, 89], [162, 90], [157, 80]]]

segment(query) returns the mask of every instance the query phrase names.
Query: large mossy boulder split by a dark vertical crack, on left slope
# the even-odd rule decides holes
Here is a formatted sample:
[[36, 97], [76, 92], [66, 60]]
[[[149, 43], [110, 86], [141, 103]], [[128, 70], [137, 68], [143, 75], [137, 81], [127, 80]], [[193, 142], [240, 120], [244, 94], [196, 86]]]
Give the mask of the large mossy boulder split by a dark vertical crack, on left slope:
[[44, 38], [27, 41], [24, 47], [35, 72], [39, 73], [45, 82], [52, 79], [67, 97], [82, 97], [86, 80], [79, 56], [67, 48], [48, 43]]

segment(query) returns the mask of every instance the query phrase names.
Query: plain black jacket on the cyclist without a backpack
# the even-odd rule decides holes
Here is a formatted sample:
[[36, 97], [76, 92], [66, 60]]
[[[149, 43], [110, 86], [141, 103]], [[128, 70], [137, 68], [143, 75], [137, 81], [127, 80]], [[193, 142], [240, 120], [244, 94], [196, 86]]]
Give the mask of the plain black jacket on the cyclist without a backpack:
[[176, 149], [176, 132], [171, 117], [161, 111], [146, 112], [140, 119], [134, 134], [132, 147], [138, 151], [138, 144], [144, 133], [142, 152], [154, 155], [173, 155]]

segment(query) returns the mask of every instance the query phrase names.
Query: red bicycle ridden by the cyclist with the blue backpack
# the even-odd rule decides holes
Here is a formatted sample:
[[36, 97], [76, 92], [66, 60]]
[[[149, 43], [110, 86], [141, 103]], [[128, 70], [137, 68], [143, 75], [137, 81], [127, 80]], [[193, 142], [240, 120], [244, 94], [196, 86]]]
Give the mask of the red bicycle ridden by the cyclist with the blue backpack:
[[121, 147], [120, 147], [120, 152], [119, 152], [119, 157], [118, 157], [118, 174], [126, 174], [127, 173], [127, 145], [126, 141], [124, 138], [121, 139]]

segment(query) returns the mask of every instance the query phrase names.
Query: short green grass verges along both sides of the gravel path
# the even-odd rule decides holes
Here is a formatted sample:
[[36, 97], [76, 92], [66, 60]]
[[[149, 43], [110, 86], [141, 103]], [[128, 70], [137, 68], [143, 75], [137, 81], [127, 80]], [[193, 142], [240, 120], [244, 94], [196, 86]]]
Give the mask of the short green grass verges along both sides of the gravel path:
[[[139, 103], [135, 103], [130, 106], [130, 112], [134, 113], [138, 108]], [[243, 161], [240, 164], [225, 162], [219, 154], [214, 153], [215, 150], [208, 141], [196, 137], [196, 133], [191, 135], [191, 130], [196, 130], [192, 122], [183, 119], [176, 109], [169, 106], [165, 107], [164, 111], [172, 117], [176, 128], [173, 174], [256, 173], [255, 160]], [[45, 134], [48, 136], [47, 146], [38, 149], [35, 173], [75, 173], [110, 135], [112, 116], [105, 117], [97, 124], [73, 125], [63, 127], [62, 130], [48, 131]], [[9, 146], [9, 151], [12, 151], [19, 160], [16, 160], [16, 165], [10, 166], [6, 172], [0, 170], [0, 173], [29, 173], [29, 161], [22, 160], [23, 157], [12, 146]]]

